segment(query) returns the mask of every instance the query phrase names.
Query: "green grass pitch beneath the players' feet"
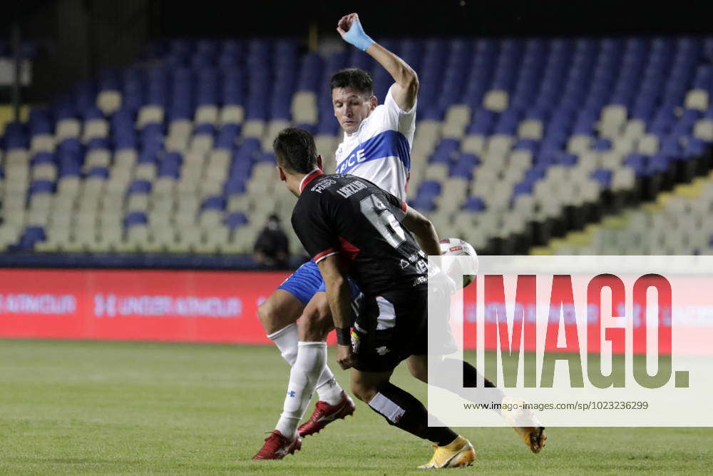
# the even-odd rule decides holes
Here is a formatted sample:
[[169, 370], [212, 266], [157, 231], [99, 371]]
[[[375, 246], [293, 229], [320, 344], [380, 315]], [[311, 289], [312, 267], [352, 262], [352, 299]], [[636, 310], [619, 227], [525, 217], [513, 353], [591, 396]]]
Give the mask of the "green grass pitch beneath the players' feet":
[[[277, 421], [287, 372], [272, 347], [0, 340], [0, 474], [423, 474], [414, 468], [429, 442], [361, 402], [295, 455], [250, 460]], [[347, 385], [346, 372], [337, 378]], [[404, 368], [394, 381], [425, 400]], [[713, 473], [713, 428], [553, 427], [539, 455], [509, 428], [461, 433], [478, 460], [448, 471]]]

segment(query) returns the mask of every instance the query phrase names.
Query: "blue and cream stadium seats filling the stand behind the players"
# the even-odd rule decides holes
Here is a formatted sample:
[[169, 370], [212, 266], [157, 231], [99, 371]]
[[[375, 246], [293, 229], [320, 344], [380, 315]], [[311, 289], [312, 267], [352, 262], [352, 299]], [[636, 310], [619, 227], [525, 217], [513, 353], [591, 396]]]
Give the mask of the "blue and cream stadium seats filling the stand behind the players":
[[[409, 203], [481, 253], [525, 253], [712, 166], [712, 38], [382, 43], [421, 80]], [[383, 100], [391, 79], [356, 49], [150, 45], [6, 125], [0, 248], [250, 253], [265, 218], [289, 223], [294, 204], [272, 139], [307, 128], [332, 158], [329, 77], [345, 66], [371, 71]]]

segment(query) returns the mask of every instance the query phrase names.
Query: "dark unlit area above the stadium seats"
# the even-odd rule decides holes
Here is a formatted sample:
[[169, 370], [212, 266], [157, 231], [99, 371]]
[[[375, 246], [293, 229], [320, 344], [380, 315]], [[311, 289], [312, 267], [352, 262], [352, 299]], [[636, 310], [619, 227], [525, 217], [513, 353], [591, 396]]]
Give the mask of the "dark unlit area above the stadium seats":
[[0, 25], [46, 41], [26, 98], [47, 98], [128, 64], [151, 39], [333, 35], [335, 19], [356, 6], [375, 36], [704, 34], [713, 13], [705, 1], [30, 0], [14, 2]]

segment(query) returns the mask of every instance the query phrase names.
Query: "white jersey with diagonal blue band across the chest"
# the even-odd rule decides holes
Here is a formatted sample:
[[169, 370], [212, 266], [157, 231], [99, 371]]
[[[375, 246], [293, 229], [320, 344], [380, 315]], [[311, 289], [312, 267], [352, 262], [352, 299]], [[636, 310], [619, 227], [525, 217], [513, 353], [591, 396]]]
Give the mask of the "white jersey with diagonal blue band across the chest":
[[352, 136], [344, 133], [344, 141], [337, 148], [336, 172], [366, 178], [405, 201], [416, 131], [416, 104], [411, 111], [402, 111], [391, 96], [391, 88], [384, 103], [361, 121]]

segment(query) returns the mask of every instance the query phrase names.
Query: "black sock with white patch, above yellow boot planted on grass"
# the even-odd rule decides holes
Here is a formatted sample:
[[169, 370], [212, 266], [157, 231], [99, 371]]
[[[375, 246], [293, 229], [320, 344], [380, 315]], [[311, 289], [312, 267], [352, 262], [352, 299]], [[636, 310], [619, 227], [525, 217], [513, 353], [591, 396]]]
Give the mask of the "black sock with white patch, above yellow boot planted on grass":
[[448, 427], [429, 427], [429, 413], [426, 407], [416, 400], [414, 395], [387, 382], [379, 389], [379, 393], [371, 399], [369, 407], [386, 418], [389, 425], [429, 440], [438, 446], [445, 446], [458, 437]]

